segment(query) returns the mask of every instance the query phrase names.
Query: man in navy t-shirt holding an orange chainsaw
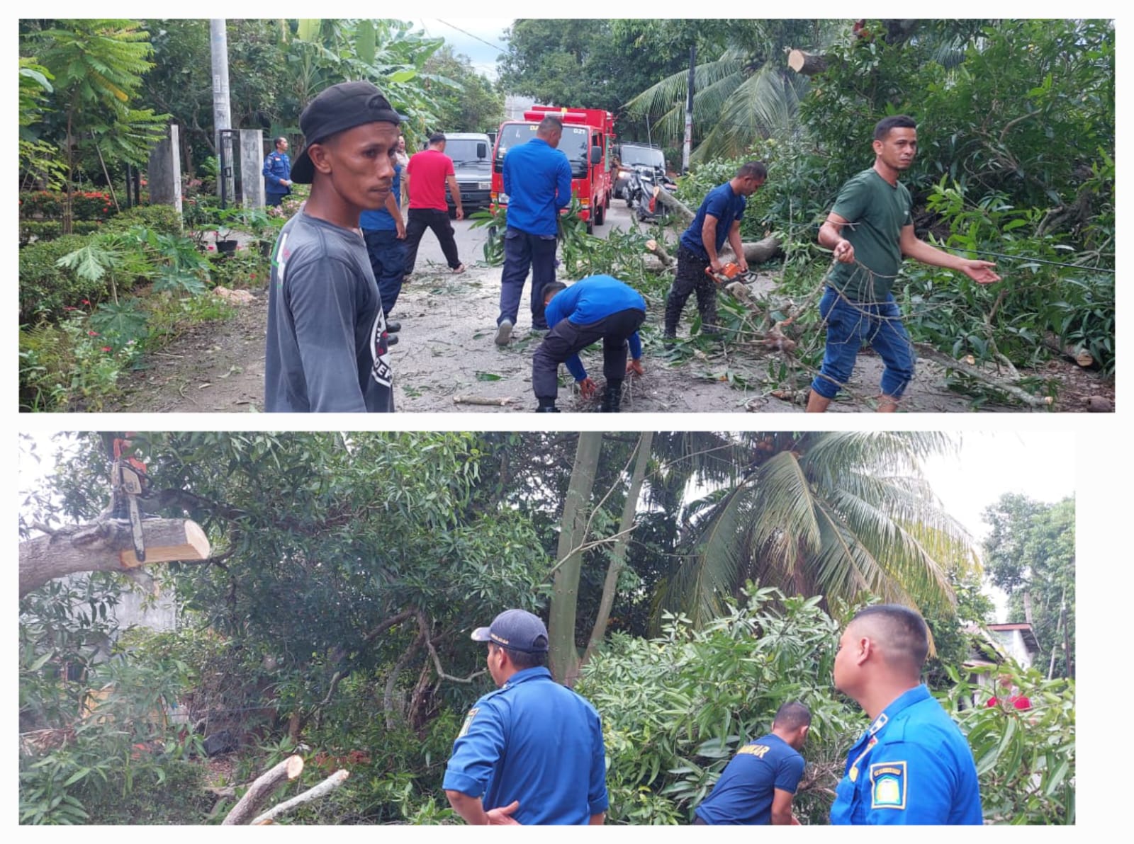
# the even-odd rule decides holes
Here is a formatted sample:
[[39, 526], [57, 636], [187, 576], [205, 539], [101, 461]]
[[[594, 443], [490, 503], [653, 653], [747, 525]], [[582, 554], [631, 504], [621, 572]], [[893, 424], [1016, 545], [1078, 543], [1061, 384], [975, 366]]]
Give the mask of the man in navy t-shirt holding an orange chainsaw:
[[697, 295], [702, 333], [718, 331], [717, 281], [713, 276], [725, 272], [719, 253], [728, 240], [736, 253], [739, 272], [748, 271], [741, 244], [741, 218], [744, 216], [747, 197], [756, 193], [767, 178], [768, 168], [763, 162], [750, 161], [731, 179], [710, 190], [701, 203], [677, 249], [677, 276], [666, 298], [666, 339], [677, 336], [682, 310], [694, 292]]

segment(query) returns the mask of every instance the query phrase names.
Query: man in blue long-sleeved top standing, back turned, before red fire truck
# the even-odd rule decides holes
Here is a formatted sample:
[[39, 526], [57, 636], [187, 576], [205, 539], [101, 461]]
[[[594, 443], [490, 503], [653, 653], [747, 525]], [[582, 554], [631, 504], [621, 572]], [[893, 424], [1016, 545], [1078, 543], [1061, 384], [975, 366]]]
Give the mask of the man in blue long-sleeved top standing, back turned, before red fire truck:
[[562, 134], [562, 121], [545, 117], [534, 138], [514, 146], [503, 156], [508, 228], [503, 233], [497, 346], [507, 346], [511, 336], [528, 268], [532, 271], [532, 329], [548, 329], [543, 318], [543, 285], [555, 281], [559, 210], [570, 204], [570, 164], [556, 148]]

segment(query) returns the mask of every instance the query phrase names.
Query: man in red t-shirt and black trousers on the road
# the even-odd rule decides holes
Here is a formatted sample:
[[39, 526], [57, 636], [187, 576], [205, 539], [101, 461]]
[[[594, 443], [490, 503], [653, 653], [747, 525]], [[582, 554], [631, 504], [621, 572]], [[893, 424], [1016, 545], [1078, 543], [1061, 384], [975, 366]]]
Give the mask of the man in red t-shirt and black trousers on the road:
[[455, 273], [465, 272], [465, 265], [457, 257], [457, 241], [452, 237], [449, 222], [449, 205], [445, 201], [445, 186], [449, 185], [452, 202], [457, 206], [457, 219], [464, 220], [460, 205], [460, 188], [452, 170], [452, 159], [445, 154], [445, 135], [430, 135], [429, 148], [409, 157], [406, 165], [406, 190], [409, 194], [409, 218], [406, 223], [406, 275], [417, 263], [417, 245], [425, 229], [432, 229], [441, 244], [441, 252]]

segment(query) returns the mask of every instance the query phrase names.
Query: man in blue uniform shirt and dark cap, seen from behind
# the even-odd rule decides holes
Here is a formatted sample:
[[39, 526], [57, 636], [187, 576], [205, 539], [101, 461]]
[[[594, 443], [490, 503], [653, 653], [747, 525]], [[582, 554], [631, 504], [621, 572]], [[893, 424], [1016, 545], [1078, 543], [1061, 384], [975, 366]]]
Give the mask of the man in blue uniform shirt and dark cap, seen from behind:
[[543, 667], [548, 630], [507, 609], [473, 640], [488, 642], [500, 687], [468, 710], [445, 770], [445, 794], [469, 824], [602, 824], [606, 751], [599, 713]]

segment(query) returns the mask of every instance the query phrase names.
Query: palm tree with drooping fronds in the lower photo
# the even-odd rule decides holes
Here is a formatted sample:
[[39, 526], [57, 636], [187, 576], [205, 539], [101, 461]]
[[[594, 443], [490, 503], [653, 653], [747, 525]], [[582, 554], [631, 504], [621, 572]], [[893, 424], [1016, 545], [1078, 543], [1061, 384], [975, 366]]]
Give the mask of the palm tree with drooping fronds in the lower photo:
[[954, 450], [954, 440], [922, 432], [754, 436], [747, 468], [685, 506], [685, 537], [657, 615], [708, 621], [746, 580], [827, 600], [954, 603], [948, 572], [974, 565], [974, 547], [920, 469], [923, 458]]

